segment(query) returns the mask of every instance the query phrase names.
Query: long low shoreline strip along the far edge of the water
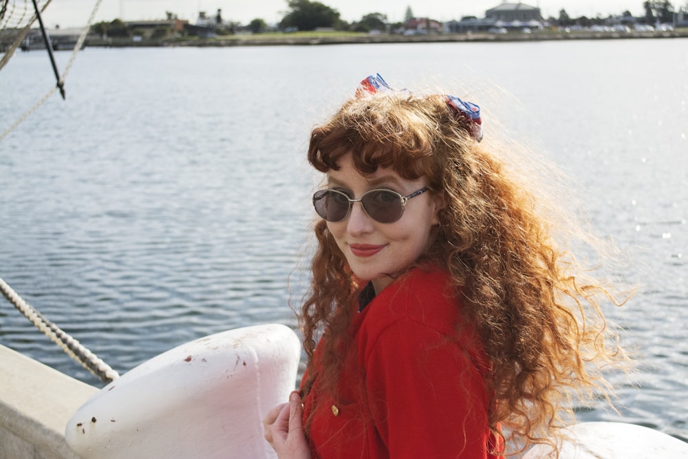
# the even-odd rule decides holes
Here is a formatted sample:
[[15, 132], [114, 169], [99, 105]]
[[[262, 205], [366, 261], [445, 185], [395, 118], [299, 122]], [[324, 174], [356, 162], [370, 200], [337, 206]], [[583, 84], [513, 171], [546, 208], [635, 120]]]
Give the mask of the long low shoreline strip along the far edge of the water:
[[280, 46], [280, 45], [349, 45], [365, 43], [476, 43], [524, 42], [613, 39], [673, 39], [688, 38], [688, 29], [655, 32], [533, 32], [508, 34], [427, 34], [405, 36], [401, 34], [239, 34], [209, 39], [87, 39], [87, 47], [228, 47], [228, 46]]

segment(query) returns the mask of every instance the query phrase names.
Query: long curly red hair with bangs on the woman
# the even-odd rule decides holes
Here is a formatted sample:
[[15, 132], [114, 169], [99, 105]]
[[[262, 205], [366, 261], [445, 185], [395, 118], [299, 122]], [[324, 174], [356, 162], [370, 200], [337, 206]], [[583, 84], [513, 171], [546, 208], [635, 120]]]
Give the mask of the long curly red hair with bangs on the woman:
[[[570, 250], [555, 242], [555, 226], [497, 154], [476, 142], [444, 96], [386, 92], [348, 100], [313, 129], [308, 160], [321, 172], [352, 153], [362, 174], [391, 167], [403, 178], [424, 177], [444, 202], [438, 237], [422, 260], [451, 274], [464, 319], [475, 325], [492, 370], [491, 425], [523, 448], [550, 442], [571, 414], [571, 393], [608, 393], [599, 369], [623, 361], [600, 308], [610, 288], [590, 277]], [[307, 393], [315, 378], [313, 354], [323, 340], [319, 381], [334, 391], [341, 345], [359, 281], [324, 221], [315, 224], [312, 282], [301, 309], [308, 355]], [[320, 352], [320, 351], [319, 351]], [[589, 363], [599, 365], [591, 367]]]

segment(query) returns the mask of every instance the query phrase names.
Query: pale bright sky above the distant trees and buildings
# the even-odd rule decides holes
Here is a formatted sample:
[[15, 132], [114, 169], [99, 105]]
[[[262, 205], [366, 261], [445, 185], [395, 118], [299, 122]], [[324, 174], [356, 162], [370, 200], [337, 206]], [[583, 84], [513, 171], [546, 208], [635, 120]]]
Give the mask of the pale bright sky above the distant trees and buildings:
[[[26, 0], [29, 5], [31, 2]], [[461, 19], [462, 16], [484, 17], [485, 10], [502, 3], [502, 0], [319, 0], [340, 13], [341, 19], [358, 21], [365, 14], [379, 12], [390, 22], [402, 21], [407, 7], [416, 17], [429, 17], [438, 21]], [[17, 2], [20, 3], [20, 2]], [[94, 0], [54, 0], [43, 14], [49, 28], [79, 27], [87, 23]], [[565, 9], [570, 17], [608, 17], [625, 10], [639, 16], [643, 13], [643, 0], [531, 0], [526, 5], [540, 8], [544, 17], [559, 17]], [[677, 9], [685, 0], [671, 2]], [[288, 10], [286, 0], [102, 0], [96, 22], [120, 18], [124, 21], [165, 19], [165, 12], [173, 12], [180, 19], [195, 23], [198, 12], [215, 15], [222, 9], [222, 19], [248, 24], [261, 18], [268, 24], [277, 23]]]

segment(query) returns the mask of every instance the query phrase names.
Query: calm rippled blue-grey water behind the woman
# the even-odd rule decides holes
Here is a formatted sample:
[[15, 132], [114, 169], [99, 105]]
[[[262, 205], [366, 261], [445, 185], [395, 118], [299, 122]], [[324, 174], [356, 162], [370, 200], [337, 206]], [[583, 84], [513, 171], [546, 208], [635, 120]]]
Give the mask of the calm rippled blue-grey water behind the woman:
[[[58, 53], [64, 68], [68, 54]], [[0, 277], [116, 370], [206, 334], [294, 324], [310, 127], [367, 74], [482, 105], [571, 178], [641, 284], [608, 314], [643, 356], [621, 420], [688, 439], [688, 41], [87, 49], [0, 142]], [[0, 72], [0, 132], [54, 85]], [[4, 300], [3, 300], [4, 302]], [[0, 303], [0, 343], [102, 385]], [[582, 420], [619, 420], [603, 407]]]

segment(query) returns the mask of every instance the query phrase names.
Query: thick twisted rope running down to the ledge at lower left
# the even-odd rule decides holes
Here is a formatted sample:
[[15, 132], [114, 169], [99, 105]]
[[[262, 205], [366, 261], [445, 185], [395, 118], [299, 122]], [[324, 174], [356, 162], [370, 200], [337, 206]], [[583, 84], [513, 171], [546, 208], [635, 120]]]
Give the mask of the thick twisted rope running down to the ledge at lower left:
[[107, 363], [98, 359], [96, 354], [89, 351], [83, 344], [70, 337], [69, 334], [61, 330], [57, 325], [43, 317], [43, 314], [35, 310], [33, 306], [21, 299], [17, 292], [12, 290], [2, 278], [0, 278], [0, 291], [15, 308], [24, 314], [24, 317], [36, 325], [41, 332], [45, 333], [47, 337], [60, 346], [72, 359], [80, 363], [89, 372], [98, 376], [100, 381], [110, 383], [120, 377]]

